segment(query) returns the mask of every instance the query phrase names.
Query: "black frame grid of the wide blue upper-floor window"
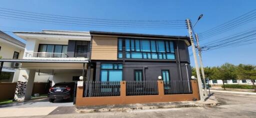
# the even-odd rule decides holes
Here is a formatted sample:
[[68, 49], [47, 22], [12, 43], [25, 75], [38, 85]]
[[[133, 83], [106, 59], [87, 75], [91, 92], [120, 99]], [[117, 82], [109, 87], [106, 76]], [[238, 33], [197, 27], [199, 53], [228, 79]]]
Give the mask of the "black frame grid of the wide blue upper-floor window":
[[[127, 58], [126, 54], [129, 54], [129, 58], [127, 59], [165, 59], [165, 60], [175, 60], [176, 59], [176, 55], [175, 55], [175, 42], [172, 40], [161, 40], [161, 39], [141, 39], [141, 38], [118, 38], [122, 40], [122, 46], [124, 46], [124, 48], [122, 48], [122, 51], [119, 51], [119, 48], [117, 48], [117, 58], [119, 58], [118, 53], [122, 52], [124, 53], [122, 55], [122, 58]], [[129, 51], [126, 51], [126, 40], [129, 40]], [[139, 51], [136, 51], [136, 40], [139, 40]], [[149, 41], [149, 50], [150, 51], [142, 51], [142, 40], [148, 40]], [[133, 51], [131, 48], [131, 41], [133, 41]], [[152, 47], [151, 47], [151, 41], [154, 41], [155, 44], [155, 52], [152, 51]], [[164, 51], [165, 52], [159, 52], [159, 46], [158, 46], [158, 41], [163, 41], [164, 44]], [[170, 42], [172, 42], [173, 44], [173, 51], [171, 52], [171, 47], [170, 47]], [[168, 51], [166, 49], [166, 44], [168, 44]], [[117, 42], [117, 47], [119, 47], [119, 42]], [[137, 53], [141, 53], [141, 57], [142, 58], [132, 58], [132, 53], [137, 52]], [[156, 53], [157, 58], [152, 58], [152, 54]], [[144, 56], [145, 54], [145, 56]], [[167, 59], [167, 54], [173, 54], [174, 59]], [[150, 55], [150, 57], [149, 57]], [[161, 58], [160, 58], [161, 57]]]

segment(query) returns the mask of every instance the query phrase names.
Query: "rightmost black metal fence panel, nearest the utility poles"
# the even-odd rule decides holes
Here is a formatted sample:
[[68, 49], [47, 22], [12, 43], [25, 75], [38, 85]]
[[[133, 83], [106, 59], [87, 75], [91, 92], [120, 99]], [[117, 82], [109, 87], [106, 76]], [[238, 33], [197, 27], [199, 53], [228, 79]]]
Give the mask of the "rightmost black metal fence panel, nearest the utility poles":
[[164, 94], [191, 94], [191, 82], [172, 80], [163, 83]]

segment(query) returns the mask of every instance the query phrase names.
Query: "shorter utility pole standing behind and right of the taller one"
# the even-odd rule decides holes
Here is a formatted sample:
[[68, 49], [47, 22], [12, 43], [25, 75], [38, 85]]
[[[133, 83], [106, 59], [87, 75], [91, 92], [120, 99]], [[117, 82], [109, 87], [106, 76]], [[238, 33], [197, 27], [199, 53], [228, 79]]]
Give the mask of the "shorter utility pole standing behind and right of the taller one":
[[207, 96], [207, 92], [206, 92], [206, 82], [205, 82], [204, 70], [203, 70], [203, 65], [202, 65], [201, 48], [200, 48], [200, 45], [199, 45], [199, 38], [198, 38], [198, 35], [197, 35], [197, 34], [195, 34], [195, 39], [196, 39], [196, 43], [197, 43], [199, 61], [200, 61], [201, 72], [202, 72], [202, 80], [203, 80], [203, 86], [204, 86], [204, 91], [203, 91], [203, 93], [204, 93], [204, 96]]

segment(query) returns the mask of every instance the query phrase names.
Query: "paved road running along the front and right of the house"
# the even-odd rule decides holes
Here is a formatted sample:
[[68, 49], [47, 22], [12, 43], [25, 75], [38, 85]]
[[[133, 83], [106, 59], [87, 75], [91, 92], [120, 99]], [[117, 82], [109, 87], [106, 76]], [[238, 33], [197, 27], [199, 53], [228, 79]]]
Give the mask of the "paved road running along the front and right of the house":
[[[256, 96], [217, 93], [217, 107], [158, 109], [132, 112], [62, 114], [24, 118], [256, 118]], [[23, 117], [19, 117], [23, 118]]]

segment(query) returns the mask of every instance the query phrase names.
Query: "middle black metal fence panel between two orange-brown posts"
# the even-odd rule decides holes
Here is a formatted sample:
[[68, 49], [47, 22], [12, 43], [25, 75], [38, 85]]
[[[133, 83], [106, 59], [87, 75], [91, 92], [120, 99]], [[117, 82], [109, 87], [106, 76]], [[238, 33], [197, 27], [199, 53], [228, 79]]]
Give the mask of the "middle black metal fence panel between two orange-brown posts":
[[126, 81], [126, 96], [158, 95], [157, 81]]

